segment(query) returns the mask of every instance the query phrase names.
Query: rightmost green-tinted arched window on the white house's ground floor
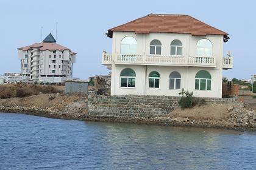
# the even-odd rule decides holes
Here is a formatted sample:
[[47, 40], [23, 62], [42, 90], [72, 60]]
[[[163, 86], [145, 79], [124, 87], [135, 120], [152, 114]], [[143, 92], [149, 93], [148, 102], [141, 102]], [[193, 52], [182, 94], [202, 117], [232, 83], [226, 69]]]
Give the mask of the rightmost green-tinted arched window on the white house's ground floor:
[[196, 73], [196, 90], [211, 90], [212, 88], [212, 77], [210, 73], [205, 70], [201, 70]]

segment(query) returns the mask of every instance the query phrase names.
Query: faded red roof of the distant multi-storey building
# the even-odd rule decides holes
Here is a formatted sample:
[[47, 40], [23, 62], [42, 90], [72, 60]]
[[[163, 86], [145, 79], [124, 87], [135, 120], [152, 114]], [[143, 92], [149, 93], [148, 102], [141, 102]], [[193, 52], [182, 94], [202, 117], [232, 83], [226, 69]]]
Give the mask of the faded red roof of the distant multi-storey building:
[[[29, 50], [33, 47], [39, 47], [40, 51], [44, 51], [44, 50], [49, 50], [49, 51], [55, 51], [55, 50], [59, 50], [59, 51], [63, 51], [63, 50], [70, 50], [66, 47], [61, 46], [60, 44], [57, 43], [46, 43], [46, 42], [40, 42], [40, 43], [35, 43], [32, 44], [30, 46], [26, 46], [26, 47], [20, 47], [18, 48], [18, 50]], [[71, 52], [71, 50], [70, 50]], [[76, 54], [75, 52], [71, 52], [71, 54]]]

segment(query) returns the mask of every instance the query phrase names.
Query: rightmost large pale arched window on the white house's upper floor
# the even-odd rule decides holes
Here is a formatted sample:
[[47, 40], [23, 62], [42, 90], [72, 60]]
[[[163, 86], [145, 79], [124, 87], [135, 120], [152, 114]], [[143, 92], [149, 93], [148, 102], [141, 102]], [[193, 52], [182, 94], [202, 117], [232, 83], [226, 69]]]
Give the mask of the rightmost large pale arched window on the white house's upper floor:
[[212, 56], [212, 42], [208, 39], [200, 39], [196, 44], [196, 56]]

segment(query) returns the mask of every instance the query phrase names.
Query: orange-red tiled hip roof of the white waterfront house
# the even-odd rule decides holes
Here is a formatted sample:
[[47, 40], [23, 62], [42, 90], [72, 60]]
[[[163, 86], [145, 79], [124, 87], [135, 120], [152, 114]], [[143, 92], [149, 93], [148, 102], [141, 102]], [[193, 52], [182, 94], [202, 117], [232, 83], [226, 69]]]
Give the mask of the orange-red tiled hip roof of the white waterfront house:
[[215, 27], [205, 24], [189, 15], [149, 14], [142, 18], [127, 22], [108, 30], [107, 36], [112, 38], [113, 32], [135, 32], [148, 34], [160, 33], [190, 33], [191, 35], [223, 35], [227, 42], [229, 35]]

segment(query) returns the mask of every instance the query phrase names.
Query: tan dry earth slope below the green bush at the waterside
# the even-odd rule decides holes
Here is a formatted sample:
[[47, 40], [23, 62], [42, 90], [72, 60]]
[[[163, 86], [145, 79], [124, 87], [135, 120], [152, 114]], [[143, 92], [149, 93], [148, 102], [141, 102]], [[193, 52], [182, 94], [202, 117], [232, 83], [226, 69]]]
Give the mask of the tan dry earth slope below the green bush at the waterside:
[[229, 118], [228, 106], [229, 104], [206, 104], [183, 110], [177, 108], [168, 117], [188, 117], [191, 120], [227, 120]]

